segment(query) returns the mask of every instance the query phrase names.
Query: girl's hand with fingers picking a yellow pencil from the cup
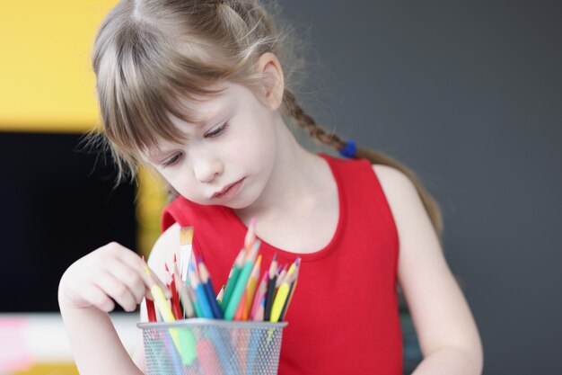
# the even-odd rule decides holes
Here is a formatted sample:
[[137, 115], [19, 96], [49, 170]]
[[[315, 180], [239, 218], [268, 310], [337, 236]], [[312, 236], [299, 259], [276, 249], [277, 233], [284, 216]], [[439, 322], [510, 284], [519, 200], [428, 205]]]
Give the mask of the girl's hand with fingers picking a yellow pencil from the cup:
[[145, 297], [152, 299], [154, 281], [170, 298], [171, 291], [154, 272], [146, 274], [145, 266], [127, 247], [115, 242], [102, 246], [66, 269], [58, 285], [58, 303], [61, 308], [94, 306], [110, 312], [117, 302], [125, 311], [133, 311]]

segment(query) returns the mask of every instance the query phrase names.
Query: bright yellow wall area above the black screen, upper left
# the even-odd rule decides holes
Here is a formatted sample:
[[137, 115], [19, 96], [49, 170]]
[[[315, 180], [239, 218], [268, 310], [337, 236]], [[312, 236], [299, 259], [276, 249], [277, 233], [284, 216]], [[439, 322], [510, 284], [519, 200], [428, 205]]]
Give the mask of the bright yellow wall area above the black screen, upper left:
[[90, 64], [116, 0], [3, 0], [0, 129], [82, 131], [98, 121]]

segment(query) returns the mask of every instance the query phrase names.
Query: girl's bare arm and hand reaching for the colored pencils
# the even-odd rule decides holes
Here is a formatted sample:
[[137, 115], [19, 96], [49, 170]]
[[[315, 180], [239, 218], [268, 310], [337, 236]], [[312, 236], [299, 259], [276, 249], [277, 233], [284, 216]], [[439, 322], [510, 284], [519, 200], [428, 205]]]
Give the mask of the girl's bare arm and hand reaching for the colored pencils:
[[[169, 297], [170, 291], [160, 281], [163, 270], [154, 273]], [[126, 311], [135, 310], [149, 295], [150, 282], [141, 258], [116, 243], [85, 255], [66, 270], [58, 288], [58, 304], [82, 375], [143, 374], [121, 343], [108, 312], [115, 302]], [[136, 356], [136, 360], [144, 369], [142, 358]]]

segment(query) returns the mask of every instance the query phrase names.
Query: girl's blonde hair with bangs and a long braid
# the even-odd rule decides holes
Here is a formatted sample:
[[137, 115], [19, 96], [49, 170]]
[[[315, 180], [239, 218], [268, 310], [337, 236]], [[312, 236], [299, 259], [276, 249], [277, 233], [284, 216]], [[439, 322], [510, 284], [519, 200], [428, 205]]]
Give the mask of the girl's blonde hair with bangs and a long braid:
[[[195, 112], [186, 104], [191, 100], [180, 103], [178, 98], [220, 94], [210, 87], [225, 81], [258, 87], [262, 77], [254, 64], [266, 52], [280, 60], [289, 83], [295, 68], [287, 35], [257, 0], [121, 0], [101, 23], [92, 58], [103, 137], [119, 166], [119, 181], [135, 176], [141, 152], [156, 146], [158, 138], [184, 137], [170, 114], [191, 122]], [[304, 112], [289, 87], [281, 112], [321, 144], [345, 147], [345, 141]], [[441, 233], [439, 207], [411, 170], [363, 148], [356, 157], [407, 174]]]

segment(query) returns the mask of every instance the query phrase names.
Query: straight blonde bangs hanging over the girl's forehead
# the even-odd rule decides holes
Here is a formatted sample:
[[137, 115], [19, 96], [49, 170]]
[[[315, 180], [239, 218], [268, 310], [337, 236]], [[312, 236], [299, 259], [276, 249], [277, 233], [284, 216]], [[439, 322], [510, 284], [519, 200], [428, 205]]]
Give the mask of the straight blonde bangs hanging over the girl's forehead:
[[232, 69], [180, 55], [170, 40], [136, 25], [122, 34], [116, 38], [127, 42], [116, 43], [120, 49], [114, 53], [106, 50], [98, 69], [98, 99], [110, 143], [127, 158], [138, 159], [159, 138], [181, 140], [184, 136], [170, 115], [195, 121], [197, 115], [186, 103], [219, 94], [209, 87], [232, 76]]

